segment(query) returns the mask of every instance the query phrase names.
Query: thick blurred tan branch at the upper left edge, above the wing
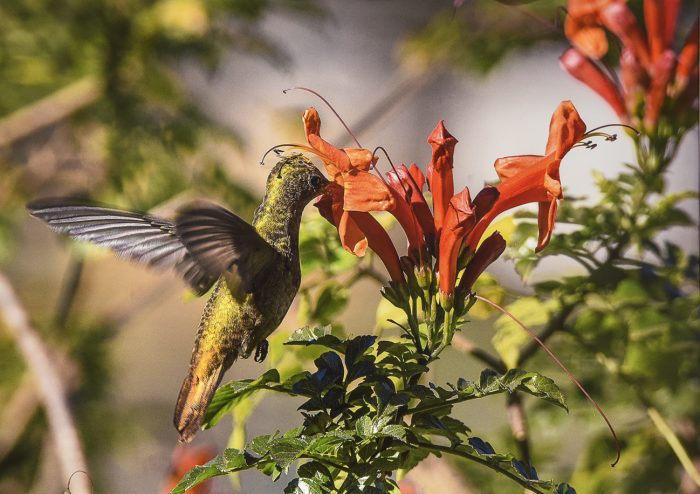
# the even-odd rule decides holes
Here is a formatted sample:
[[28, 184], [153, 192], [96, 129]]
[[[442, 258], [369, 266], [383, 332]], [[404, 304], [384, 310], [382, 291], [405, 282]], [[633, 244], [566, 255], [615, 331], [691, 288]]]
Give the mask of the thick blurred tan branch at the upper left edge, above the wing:
[[0, 120], [0, 148], [60, 122], [102, 94], [97, 79], [84, 77]]

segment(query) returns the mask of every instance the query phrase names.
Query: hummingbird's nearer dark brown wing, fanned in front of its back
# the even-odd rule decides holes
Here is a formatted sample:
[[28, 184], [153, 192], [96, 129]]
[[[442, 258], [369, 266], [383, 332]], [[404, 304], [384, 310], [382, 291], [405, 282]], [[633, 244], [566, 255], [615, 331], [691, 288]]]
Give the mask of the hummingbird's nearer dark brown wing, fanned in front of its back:
[[250, 223], [215, 204], [187, 206], [175, 225], [197, 264], [211, 275], [223, 276], [239, 299], [253, 292], [256, 279], [279, 257]]

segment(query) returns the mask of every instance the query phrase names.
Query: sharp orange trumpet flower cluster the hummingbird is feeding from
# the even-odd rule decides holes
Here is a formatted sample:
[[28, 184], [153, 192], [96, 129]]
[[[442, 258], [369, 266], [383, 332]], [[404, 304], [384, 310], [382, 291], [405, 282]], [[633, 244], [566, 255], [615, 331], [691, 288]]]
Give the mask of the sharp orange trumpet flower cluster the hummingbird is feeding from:
[[[498, 232], [480, 242], [500, 213], [538, 203], [537, 248], [547, 245], [557, 201], [562, 198], [559, 165], [586, 132], [573, 104], [562, 102], [552, 116], [545, 154], [496, 160], [500, 184], [486, 186], [472, 199], [466, 187], [454, 191], [457, 139], [442, 121], [428, 137], [433, 152], [426, 178], [415, 164], [392, 167], [385, 176], [374, 174], [376, 160], [369, 150], [338, 149], [321, 138], [321, 120], [314, 108], [304, 113], [303, 120], [309, 146], [323, 160], [332, 180], [316, 206], [338, 229], [343, 247], [358, 256], [368, 247], [375, 251], [395, 284], [415, 279], [416, 269], [437, 271], [440, 301], [450, 306], [455, 290], [468, 294], [477, 277], [503, 253], [505, 241]], [[432, 210], [423, 194], [426, 184], [432, 193]], [[401, 225], [408, 241], [404, 258], [399, 258], [388, 233], [371, 215], [373, 211], [388, 211]]]

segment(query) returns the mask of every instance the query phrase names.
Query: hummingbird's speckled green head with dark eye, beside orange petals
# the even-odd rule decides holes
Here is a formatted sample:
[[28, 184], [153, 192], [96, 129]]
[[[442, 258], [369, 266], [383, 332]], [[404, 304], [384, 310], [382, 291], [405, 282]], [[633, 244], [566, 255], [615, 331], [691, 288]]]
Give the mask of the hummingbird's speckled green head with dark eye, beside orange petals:
[[303, 209], [329, 183], [305, 156], [292, 154], [279, 161], [270, 172], [265, 195], [267, 198], [277, 196], [287, 207]]

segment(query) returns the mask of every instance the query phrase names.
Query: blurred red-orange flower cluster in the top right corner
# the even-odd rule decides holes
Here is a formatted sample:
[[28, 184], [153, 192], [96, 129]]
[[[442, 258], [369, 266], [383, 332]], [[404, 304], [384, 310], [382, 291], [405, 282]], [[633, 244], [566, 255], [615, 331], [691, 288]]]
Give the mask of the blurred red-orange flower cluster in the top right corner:
[[[680, 109], [698, 99], [698, 21], [679, 53], [673, 50], [680, 0], [644, 0], [646, 35], [625, 0], [569, 0], [564, 32], [573, 48], [564, 70], [600, 95], [625, 124], [654, 129], [667, 97]], [[601, 68], [606, 30], [622, 43], [620, 81]], [[697, 108], [694, 110], [697, 113]]]

